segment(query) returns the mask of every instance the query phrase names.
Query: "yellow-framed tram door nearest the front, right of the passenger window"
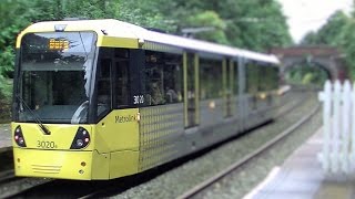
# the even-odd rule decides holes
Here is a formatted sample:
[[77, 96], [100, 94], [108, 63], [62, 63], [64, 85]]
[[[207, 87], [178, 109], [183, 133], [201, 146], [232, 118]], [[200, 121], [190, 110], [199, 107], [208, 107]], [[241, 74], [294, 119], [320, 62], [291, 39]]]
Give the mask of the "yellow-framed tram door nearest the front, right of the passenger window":
[[185, 128], [199, 124], [199, 56], [193, 53], [184, 53], [184, 115]]

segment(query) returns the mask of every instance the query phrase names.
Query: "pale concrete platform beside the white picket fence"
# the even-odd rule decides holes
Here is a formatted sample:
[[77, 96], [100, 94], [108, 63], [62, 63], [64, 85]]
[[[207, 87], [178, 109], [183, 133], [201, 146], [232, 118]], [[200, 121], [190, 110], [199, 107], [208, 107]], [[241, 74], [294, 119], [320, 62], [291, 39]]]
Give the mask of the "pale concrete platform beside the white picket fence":
[[317, 130], [288, 159], [244, 199], [354, 199], [355, 181], [346, 176], [325, 177], [317, 154], [322, 129]]

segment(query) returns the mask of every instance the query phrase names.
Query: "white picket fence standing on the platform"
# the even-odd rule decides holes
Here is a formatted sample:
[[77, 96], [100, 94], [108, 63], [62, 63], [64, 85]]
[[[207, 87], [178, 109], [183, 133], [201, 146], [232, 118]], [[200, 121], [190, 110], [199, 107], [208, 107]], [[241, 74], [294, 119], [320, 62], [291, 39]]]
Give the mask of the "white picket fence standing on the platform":
[[355, 174], [355, 84], [327, 81], [323, 102], [323, 149], [318, 155], [326, 174]]

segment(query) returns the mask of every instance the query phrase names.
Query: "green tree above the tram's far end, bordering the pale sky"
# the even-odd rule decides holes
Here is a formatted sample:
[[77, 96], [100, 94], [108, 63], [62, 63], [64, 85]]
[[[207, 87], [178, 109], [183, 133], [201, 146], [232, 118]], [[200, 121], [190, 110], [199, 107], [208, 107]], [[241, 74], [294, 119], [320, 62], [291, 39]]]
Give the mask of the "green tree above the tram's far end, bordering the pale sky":
[[276, 1], [227, 0], [212, 6], [223, 10], [221, 17], [227, 21], [226, 35], [235, 46], [265, 51], [292, 43], [286, 18]]

